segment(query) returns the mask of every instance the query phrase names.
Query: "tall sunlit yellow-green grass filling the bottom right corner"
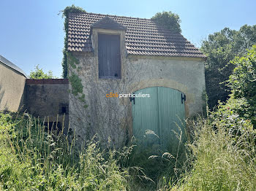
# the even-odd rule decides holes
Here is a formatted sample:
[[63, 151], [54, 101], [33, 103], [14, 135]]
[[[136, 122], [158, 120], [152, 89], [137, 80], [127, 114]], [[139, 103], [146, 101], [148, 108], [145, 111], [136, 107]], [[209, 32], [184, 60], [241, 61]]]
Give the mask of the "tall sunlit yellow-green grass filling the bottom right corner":
[[236, 136], [222, 120], [200, 119], [193, 127], [186, 173], [176, 187], [169, 182], [160, 190], [256, 190], [255, 133]]

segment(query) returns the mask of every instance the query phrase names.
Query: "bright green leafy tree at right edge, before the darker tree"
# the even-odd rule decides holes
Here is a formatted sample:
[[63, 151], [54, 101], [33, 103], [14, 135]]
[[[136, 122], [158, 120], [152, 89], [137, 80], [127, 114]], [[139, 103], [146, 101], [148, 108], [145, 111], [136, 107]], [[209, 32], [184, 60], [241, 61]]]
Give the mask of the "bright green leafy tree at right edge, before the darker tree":
[[241, 117], [252, 121], [256, 128], [256, 45], [239, 58], [236, 57], [231, 63], [236, 66], [230, 75], [228, 85], [232, 89], [234, 98], [245, 98], [244, 104], [238, 111]]

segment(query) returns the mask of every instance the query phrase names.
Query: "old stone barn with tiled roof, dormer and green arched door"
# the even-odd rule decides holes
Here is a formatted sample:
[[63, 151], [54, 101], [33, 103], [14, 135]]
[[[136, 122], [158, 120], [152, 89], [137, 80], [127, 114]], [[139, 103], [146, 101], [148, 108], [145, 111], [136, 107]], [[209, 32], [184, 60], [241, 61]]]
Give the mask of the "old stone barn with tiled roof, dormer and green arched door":
[[120, 145], [153, 130], [166, 144], [202, 112], [206, 56], [181, 34], [148, 19], [70, 13], [67, 42], [69, 123], [80, 139]]

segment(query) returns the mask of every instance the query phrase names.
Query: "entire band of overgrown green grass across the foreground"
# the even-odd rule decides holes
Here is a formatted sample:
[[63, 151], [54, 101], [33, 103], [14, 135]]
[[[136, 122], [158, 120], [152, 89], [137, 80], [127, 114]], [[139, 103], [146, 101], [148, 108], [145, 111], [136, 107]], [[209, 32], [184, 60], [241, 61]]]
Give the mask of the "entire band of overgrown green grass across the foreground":
[[174, 132], [172, 150], [141, 140], [102, 149], [97, 138], [79, 147], [75, 132], [0, 113], [0, 190], [256, 190], [256, 133], [229, 104], [239, 106], [188, 122], [186, 144]]

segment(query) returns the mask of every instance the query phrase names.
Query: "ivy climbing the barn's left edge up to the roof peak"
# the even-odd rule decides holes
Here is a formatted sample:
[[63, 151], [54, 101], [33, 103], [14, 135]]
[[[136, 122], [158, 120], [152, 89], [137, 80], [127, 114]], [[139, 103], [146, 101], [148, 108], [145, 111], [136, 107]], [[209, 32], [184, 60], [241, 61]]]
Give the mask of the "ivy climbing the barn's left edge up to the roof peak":
[[63, 49], [63, 58], [62, 58], [62, 77], [67, 78], [67, 35], [68, 35], [68, 15], [70, 12], [72, 13], [81, 13], [81, 12], [86, 12], [83, 8], [81, 7], [75, 7], [74, 4], [72, 6], [66, 7], [62, 12], [62, 17], [65, 19], [64, 20], [64, 31], [65, 31], [65, 38], [64, 38], [64, 49]]

